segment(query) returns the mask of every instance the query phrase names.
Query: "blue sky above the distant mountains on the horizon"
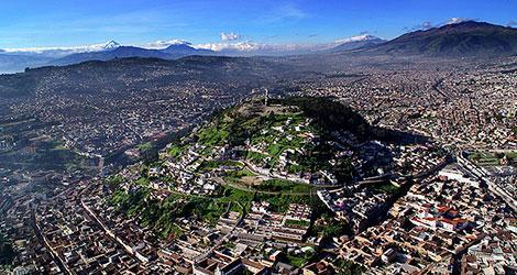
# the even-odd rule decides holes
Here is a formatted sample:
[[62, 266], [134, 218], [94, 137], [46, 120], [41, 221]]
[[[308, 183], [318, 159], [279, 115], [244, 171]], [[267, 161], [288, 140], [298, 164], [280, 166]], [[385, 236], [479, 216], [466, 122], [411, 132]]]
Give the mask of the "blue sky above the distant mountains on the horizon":
[[238, 41], [273, 44], [329, 42], [364, 32], [393, 38], [451, 18], [515, 24], [517, 1], [7, 0], [0, 3], [0, 48], [109, 40], [220, 43], [221, 33], [231, 32]]

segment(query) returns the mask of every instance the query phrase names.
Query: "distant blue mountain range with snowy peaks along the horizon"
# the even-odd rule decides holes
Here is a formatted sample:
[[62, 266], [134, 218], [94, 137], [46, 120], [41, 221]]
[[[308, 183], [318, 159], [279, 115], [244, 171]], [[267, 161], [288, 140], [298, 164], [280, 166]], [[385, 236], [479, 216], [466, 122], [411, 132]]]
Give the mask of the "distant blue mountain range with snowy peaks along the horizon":
[[515, 55], [517, 54], [517, 29], [466, 21], [426, 31], [406, 33], [392, 41], [384, 41], [370, 34], [363, 34], [333, 42], [326, 50], [262, 47], [251, 51], [246, 50], [245, 52], [241, 53], [240, 50], [221, 50], [216, 52], [195, 48], [186, 42], [178, 42], [162, 50], [150, 50], [122, 46], [114, 41], [84, 47], [25, 50], [19, 52], [0, 50], [0, 73], [21, 72], [25, 67], [62, 66], [88, 61], [110, 61], [127, 57], [177, 59], [191, 55], [282, 56], [324, 53], [443, 57]]

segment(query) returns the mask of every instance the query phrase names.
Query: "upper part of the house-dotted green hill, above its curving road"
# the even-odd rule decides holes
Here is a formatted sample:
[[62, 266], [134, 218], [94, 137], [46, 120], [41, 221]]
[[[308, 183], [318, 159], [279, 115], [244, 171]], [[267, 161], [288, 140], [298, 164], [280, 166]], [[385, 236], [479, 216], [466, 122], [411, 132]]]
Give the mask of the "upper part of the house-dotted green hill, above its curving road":
[[232, 160], [255, 174], [331, 185], [352, 178], [351, 145], [370, 135], [361, 116], [328, 98], [255, 100], [216, 113], [169, 153], [201, 155], [198, 172]]

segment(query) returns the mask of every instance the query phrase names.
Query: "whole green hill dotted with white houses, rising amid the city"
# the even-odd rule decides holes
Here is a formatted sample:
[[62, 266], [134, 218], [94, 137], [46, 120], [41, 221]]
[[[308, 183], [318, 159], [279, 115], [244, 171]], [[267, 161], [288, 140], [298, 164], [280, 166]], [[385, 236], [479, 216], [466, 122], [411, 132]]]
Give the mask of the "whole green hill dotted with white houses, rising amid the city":
[[[316, 190], [352, 182], [353, 147], [371, 132], [329, 98], [251, 100], [215, 112], [157, 161], [108, 178], [109, 202], [164, 238], [183, 234], [179, 218], [215, 224], [228, 211], [249, 212], [252, 201], [274, 212], [305, 204], [320, 215]], [[156, 191], [168, 195], [158, 199]]]

